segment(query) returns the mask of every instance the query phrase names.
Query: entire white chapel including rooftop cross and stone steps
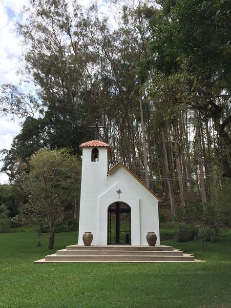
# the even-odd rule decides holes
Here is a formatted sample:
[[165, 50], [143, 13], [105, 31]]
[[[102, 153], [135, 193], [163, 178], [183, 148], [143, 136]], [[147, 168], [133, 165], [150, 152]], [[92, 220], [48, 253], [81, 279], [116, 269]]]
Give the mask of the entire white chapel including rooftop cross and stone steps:
[[[93, 127], [100, 126], [96, 122]], [[111, 148], [97, 137], [96, 131], [96, 140], [80, 146], [83, 164], [78, 244], [57, 250], [34, 264], [198, 261], [191, 254], [160, 245], [160, 198], [124, 164], [119, 162], [108, 170]], [[150, 236], [153, 240], [155, 232], [156, 244], [147, 243], [148, 232], [148, 241]]]

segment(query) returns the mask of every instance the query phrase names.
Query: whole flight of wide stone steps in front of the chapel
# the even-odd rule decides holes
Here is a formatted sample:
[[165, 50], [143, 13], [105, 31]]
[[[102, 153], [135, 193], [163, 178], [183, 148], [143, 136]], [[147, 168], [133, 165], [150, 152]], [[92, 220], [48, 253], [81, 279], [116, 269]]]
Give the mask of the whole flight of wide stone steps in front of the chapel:
[[64, 262], [193, 262], [194, 256], [183, 253], [171, 246], [79, 246], [71, 245], [66, 249], [46, 256], [39, 263]]

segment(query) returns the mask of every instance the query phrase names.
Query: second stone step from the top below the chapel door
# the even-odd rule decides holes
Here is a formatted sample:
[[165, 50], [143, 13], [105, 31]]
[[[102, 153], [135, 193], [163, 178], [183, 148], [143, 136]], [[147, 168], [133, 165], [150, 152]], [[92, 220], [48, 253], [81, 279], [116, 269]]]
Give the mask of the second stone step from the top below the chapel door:
[[58, 256], [81, 256], [81, 255], [123, 255], [123, 256], [183, 256], [183, 251], [173, 250], [58, 250]]

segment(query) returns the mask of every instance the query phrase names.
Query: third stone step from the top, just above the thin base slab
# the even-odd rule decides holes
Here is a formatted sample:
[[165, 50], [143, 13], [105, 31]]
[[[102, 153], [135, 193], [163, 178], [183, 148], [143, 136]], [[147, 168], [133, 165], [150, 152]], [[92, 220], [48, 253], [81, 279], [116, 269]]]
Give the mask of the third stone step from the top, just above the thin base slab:
[[[194, 256], [189, 254], [184, 254], [183, 256], [125, 256], [125, 255], [74, 255], [74, 256], [59, 256], [56, 253], [48, 255], [45, 257], [45, 261], [58, 261], [58, 262], [101, 262], [101, 261], [117, 261], [117, 262], [130, 262], [130, 261], [146, 261], [146, 262], [155, 262], [155, 261], [194, 261]], [[38, 262], [39, 263], [39, 262]]]

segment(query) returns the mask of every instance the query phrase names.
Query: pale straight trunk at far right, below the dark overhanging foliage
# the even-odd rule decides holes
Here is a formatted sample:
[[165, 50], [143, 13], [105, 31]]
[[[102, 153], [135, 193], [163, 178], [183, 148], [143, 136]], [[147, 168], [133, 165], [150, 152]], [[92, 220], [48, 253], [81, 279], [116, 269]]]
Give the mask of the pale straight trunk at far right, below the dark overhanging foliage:
[[202, 148], [201, 148], [201, 140], [200, 140], [200, 123], [199, 123], [199, 117], [198, 117], [198, 110], [197, 109], [194, 109], [194, 121], [195, 121], [195, 128], [196, 128], [197, 155], [198, 155], [198, 165], [199, 165], [201, 199], [202, 199], [202, 203], [205, 203], [205, 202], [207, 202], [207, 198], [206, 198], [204, 167], [203, 167], [203, 159], [202, 159]]

